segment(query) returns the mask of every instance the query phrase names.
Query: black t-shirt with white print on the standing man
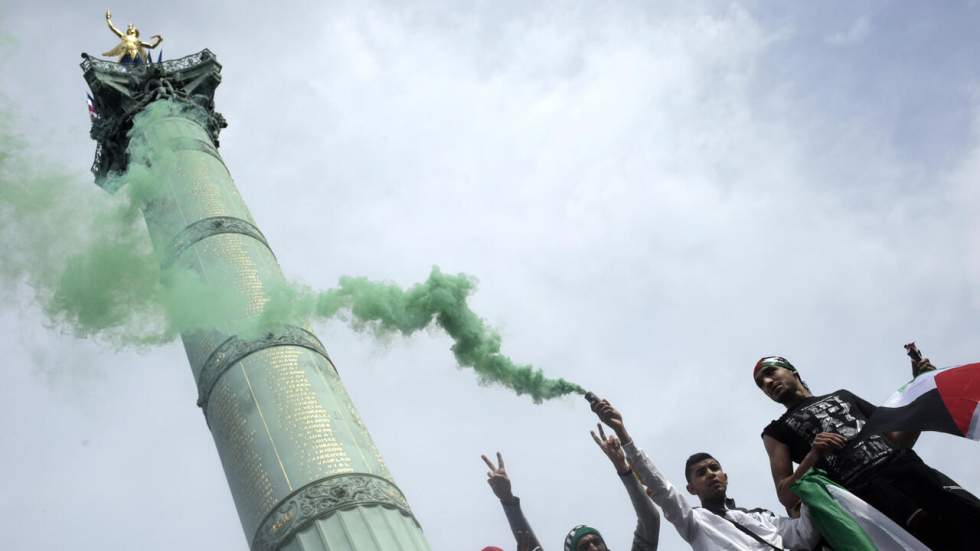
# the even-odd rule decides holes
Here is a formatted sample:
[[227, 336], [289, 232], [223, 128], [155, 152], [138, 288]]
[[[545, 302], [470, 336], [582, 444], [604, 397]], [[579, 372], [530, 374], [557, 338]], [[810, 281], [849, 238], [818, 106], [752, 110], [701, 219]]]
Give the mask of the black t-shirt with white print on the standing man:
[[899, 450], [880, 434], [860, 434], [875, 406], [846, 390], [824, 396], [813, 396], [789, 409], [782, 417], [763, 429], [770, 436], [789, 446], [793, 461], [803, 461], [810, 452], [813, 439], [821, 432], [834, 432], [848, 440], [847, 445], [817, 463], [830, 478], [847, 486], [877, 466], [895, 457]]

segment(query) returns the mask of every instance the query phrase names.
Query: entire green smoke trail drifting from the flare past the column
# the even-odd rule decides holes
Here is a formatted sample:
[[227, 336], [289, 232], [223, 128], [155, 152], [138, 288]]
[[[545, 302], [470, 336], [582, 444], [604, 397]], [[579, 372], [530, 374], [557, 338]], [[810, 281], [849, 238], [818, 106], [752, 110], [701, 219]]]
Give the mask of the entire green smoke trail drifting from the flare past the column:
[[[134, 134], [180, 107], [156, 102], [134, 121]], [[31, 158], [0, 114], [0, 283], [24, 282], [53, 324], [116, 346], [172, 341], [181, 332], [221, 328], [252, 334], [281, 323], [347, 319], [375, 335], [412, 335], [431, 325], [453, 340], [460, 366], [482, 383], [500, 384], [535, 402], [583, 390], [501, 353], [500, 336], [470, 310], [471, 277], [434, 268], [425, 282], [402, 289], [344, 277], [318, 292], [285, 281], [266, 289], [269, 302], [247, 314], [233, 273], [170, 268], [161, 272], [141, 207], [158, 199], [160, 179], [172, 174], [172, 151], [130, 144], [121, 191], [110, 195], [89, 178], [54, 171]]]

